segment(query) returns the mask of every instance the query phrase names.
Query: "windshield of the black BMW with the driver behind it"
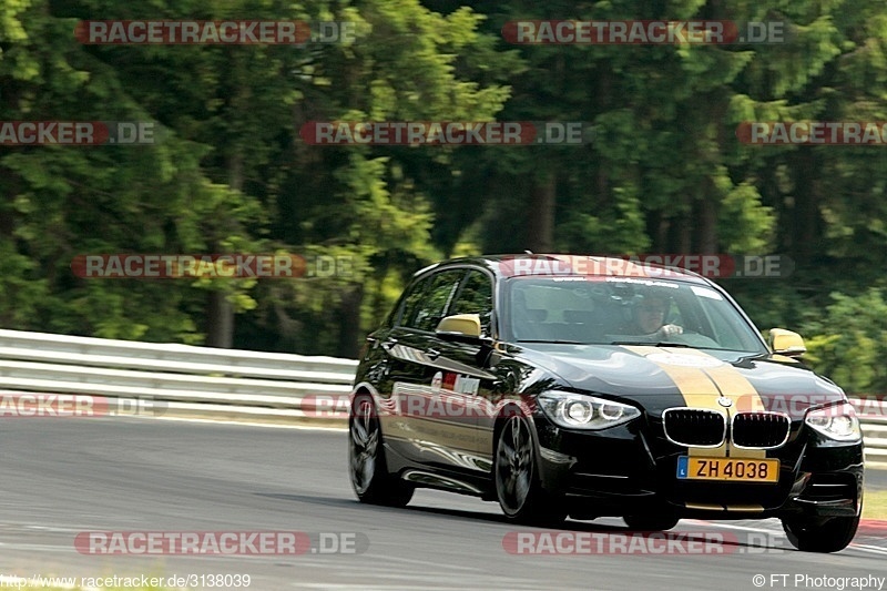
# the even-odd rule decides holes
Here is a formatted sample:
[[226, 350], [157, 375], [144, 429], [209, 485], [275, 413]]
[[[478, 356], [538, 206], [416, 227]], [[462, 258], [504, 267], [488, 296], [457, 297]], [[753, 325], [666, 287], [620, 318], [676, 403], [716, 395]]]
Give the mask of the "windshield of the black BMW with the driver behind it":
[[699, 283], [613, 276], [512, 277], [503, 336], [517, 343], [656, 344], [766, 353], [721, 292]]

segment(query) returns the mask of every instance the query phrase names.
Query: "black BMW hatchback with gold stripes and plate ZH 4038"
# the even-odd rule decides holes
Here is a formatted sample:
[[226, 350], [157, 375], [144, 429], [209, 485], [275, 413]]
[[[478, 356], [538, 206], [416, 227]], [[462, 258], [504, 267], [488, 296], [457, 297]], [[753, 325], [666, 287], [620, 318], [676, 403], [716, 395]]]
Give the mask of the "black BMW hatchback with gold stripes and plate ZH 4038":
[[844, 391], [691, 272], [500, 255], [418, 272], [368, 337], [349, 417], [364, 502], [417, 487], [534, 524], [779, 518], [802, 550], [853, 539], [863, 441]]

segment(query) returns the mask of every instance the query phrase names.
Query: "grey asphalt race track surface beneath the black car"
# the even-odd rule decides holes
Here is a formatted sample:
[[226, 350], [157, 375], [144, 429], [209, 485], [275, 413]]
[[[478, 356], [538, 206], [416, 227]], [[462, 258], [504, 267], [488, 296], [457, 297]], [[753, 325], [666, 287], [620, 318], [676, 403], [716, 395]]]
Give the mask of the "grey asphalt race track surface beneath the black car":
[[[228, 573], [248, 574], [252, 590], [427, 591], [835, 589], [815, 578], [887, 577], [884, 530], [880, 536], [877, 531], [858, 536], [840, 553], [813, 554], [791, 549], [774, 520], [681, 521], [674, 530], [687, 533], [681, 548], [707, 548], [704, 552], [680, 551], [675, 546], [664, 553], [638, 548], [582, 556], [509, 553], [503, 539], [513, 540], [517, 530], [534, 540], [544, 530], [506, 523], [495, 503], [432, 491], [419, 491], [407, 509], [358, 503], [346, 472], [345, 431], [151, 419], [14, 418], [0, 420], [0, 574], [4, 575]], [[887, 488], [887, 472], [870, 471], [868, 481]], [[624, 542], [628, 532], [619, 519], [567, 526], [572, 539], [592, 537], [614, 549], [619, 547], [610, 541]], [[332, 548], [330, 540], [357, 542], [345, 553], [306, 549], [298, 556], [79, 552], [78, 533], [96, 531], [297, 531], [309, 534], [315, 551], [323, 549], [322, 533], [326, 549]], [[339, 533], [348, 536], [334, 536]], [[694, 539], [695, 544], [687, 541]], [[755, 574], [765, 575], [763, 585], [754, 584]], [[813, 579], [796, 580], [796, 575]]]

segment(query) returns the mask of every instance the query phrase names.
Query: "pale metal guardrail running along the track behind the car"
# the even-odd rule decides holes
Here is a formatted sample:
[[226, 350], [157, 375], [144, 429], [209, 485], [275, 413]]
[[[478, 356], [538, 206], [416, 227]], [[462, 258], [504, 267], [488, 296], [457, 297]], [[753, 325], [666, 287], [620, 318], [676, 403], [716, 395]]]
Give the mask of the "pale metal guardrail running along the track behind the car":
[[[171, 415], [340, 424], [343, 409], [318, 408], [318, 398], [350, 393], [356, 367], [335, 357], [0, 329], [4, 390], [150, 398]], [[866, 460], [887, 462], [887, 403], [852, 403], [861, 412]]]

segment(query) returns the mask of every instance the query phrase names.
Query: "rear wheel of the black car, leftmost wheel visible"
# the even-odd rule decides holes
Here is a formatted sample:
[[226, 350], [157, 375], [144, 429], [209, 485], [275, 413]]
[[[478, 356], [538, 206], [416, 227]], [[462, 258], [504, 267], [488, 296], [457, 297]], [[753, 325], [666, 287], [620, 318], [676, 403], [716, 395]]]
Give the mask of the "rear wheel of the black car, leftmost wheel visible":
[[388, 473], [376, 407], [366, 394], [355, 396], [348, 418], [348, 473], [360, 502], [406, 507], [415, 491]]

